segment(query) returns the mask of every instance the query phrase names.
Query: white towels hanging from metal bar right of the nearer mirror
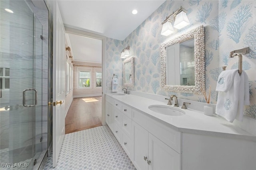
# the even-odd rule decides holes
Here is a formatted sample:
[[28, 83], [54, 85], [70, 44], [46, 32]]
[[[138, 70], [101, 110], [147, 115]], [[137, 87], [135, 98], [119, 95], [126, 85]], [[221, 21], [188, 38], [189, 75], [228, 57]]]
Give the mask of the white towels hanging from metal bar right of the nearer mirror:
[[216, 91], [219, 91], [216, 114], [230, 122], [234, 119], [242, 121], [244, 104], [250, 103], [246, 72], [242, 71], [240, 76], [238, 69], [222, 71], [218, 77]]

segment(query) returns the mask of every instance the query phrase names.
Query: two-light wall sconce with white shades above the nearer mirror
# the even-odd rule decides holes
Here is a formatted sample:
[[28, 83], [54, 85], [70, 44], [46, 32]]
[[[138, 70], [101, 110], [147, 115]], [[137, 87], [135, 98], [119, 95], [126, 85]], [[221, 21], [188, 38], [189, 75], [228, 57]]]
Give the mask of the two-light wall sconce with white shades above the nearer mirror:
[[[166, 20], [162, 22], [162, 31], [161, 35], [168, 36], [174, 32], [174, 28], [182, 29], [183, 27], [189, 24], [188, 17], [186, 15], [187, 10], [180, 6], [180, 9], [176, 12], [172, 12], [169, 16], [166, 17]], [[172, 18], [172, 19], [170, 19]], [[174, 25], [172, 27], [172, 22], [174, 21]]]

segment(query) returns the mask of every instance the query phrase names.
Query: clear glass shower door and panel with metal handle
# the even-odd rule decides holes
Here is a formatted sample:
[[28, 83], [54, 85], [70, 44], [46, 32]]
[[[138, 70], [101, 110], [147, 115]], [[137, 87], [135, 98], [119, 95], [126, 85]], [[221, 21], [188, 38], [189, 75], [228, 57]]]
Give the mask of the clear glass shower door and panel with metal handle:
[[42, 25], [26, 1], [1, 0], [0, 10], [0, 169], [32, 169], [42, 151]]

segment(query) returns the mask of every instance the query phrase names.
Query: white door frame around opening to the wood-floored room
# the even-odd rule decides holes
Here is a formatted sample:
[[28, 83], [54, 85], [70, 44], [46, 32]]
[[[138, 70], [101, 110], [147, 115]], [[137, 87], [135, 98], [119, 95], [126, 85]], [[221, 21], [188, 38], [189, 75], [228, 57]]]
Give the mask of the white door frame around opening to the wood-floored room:
[[103, 35], [98, 35], [95, 33], [90, 33], [87, 31], [82, 31], [79, 29], [74, 29], [71, 27], [66, 27], [64, 25], [66, 33], [72, 33], [76, 35], [81, 35], [84, 37], [90, 37], [94, 39], [99, 39], [102, 41], [102, 125], [106, 125], [106, 119], [105, 119], [105, 92], [106, 92], [106, 84], [105, 84], [105, 51], [106, 51], [106, 37]]

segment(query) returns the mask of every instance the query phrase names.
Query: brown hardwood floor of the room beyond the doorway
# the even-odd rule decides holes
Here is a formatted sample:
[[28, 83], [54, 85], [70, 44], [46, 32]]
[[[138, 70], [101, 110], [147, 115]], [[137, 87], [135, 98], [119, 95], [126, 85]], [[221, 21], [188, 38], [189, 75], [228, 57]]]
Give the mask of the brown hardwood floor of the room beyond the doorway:
[[65, 134], [102, 125], [101, 96], [74, 98], [65, 118]]

